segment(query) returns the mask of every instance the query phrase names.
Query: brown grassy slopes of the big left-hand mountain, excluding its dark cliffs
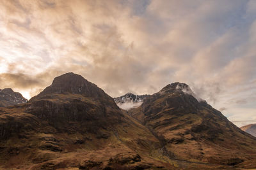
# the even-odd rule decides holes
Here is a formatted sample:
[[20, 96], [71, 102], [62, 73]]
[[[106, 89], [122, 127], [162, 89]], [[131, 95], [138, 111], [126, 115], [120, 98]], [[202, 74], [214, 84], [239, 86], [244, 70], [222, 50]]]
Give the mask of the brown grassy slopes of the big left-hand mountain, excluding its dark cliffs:
[[[67, 104], [70, 99], [97, 104], [88, 98], [70, 94], [44, 100]], [[72, 121], [66, 125], [68, 132], [58, 132], [58, 129], [44, 119], [35, 117], [33, 113], [26, 113], [30, 107], [28, 103], [20, 107], [2, 108], [0, 111], [0, 127], [10, 130], [10, 136], [2, 136], [0, 142], [1, 167], [56, 169], [106, 167], [113, 164], [142, 167], [163, 167], [167, 164], [171, 167], [168, 162], [159, 161], [163, 159], [161, 153], [157, 152], [161, 147], [159, 141], [147, 128], [121, 110], [119, 114], [122, 121], [119, 124], [98, 129], [96, 133], [83, 133], [81, 129], [76, 129], [80, 127], [80, 123]], [[113, 111], [111, 108], [107, 110]], [[20, 126], [16, 127], [17, 124]], [[136, 160], [138, 155], [141, 158]]]

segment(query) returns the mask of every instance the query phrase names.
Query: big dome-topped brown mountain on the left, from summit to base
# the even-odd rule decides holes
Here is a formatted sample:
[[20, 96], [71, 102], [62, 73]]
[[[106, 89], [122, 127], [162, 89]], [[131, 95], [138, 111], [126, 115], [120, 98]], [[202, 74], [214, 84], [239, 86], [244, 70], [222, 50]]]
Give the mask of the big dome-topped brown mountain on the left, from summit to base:
[[0, 169], [171, 167], [159, 161], [160, 149], [146, 127], [78, 74], [54, 78], [26, 104], [0, 108]]

